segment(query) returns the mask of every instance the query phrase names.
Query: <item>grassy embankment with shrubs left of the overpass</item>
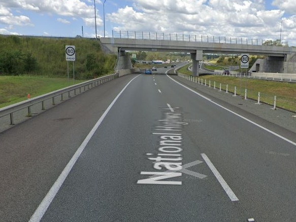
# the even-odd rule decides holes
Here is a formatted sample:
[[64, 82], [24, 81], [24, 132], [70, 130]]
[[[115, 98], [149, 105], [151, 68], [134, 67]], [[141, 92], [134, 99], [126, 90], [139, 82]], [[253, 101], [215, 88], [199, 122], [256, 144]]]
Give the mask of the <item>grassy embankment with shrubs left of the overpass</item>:
[[[105, 54], [99, 41], [84, 38], [1, 35], [0, 76], [68, 77], [66, 45], [75, 46], [76, 79], [91, 79], [114, 72], [116, 55]], [[73, 62], [69, 62], [69, 72], [73, 73]]]

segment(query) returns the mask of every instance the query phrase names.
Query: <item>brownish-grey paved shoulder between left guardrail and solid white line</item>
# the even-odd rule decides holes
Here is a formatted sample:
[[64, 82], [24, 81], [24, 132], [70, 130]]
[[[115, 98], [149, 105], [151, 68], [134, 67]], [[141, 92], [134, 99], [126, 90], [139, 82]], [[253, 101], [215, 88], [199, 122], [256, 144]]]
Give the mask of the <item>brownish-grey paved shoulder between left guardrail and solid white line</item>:
[[133, 76], [118, 78], [0, 133], [0, 221], [28, 221], [94, 123]]

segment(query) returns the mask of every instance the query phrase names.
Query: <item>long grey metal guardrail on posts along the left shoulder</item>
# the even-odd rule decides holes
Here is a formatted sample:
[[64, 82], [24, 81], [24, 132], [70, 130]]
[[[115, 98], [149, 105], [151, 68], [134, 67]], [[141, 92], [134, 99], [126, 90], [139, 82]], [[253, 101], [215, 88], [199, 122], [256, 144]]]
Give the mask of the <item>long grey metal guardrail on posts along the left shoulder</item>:
[[118, 77], [118, 73], [113, 74], [113, 75], [109, 75], [106, 77], [101, 77], [101, 78], [97, 78], [94, 80], [89, 80], [86, 81], [84, 83], [80, 83], [80, 84], [76, 84], [74, 86], [69, 86], [60, 90], [56, 90], [41, 96], [37, 96], [34, 98], [30, 98], [28, 100], [22, 101], [22, 102], [18, 102], [9, 106], [5, 106], [3, 108], [0, 108], [0, 118], [5, 117], [7, 115], [10, 115], [10, 124], [14, 125], [14, 118], [13, 118], [13, 114], [15, 112], [18, 112], [21, 109], [25, 109], [27, 108], [27, 117], [31, 117], [31, 106], [32, 105], [36, 105], [38, 103], [41, 103], [41, 109], [45, 110], [45, 101], [51, 99], [52, 100], [52, 104], [55, 104], [55, 98], [60, 96], [61, 101], [63, 100], [63, 96], [64, 94], [68, 94], [68, 97], [71, 97], [70, 94], [71, 92], [74, 92], [74, 95], [76, 95], [77, 91], [79, 90], [79, 93], [82, 92], [82, 88], [84, 89], [84, 91], [86, 91], [86, 87], [87, 89], [93, 88], [95, 86], [101, 85], [103, 83], [106, 83], [108, 81], [113, 80], [115, 77]]

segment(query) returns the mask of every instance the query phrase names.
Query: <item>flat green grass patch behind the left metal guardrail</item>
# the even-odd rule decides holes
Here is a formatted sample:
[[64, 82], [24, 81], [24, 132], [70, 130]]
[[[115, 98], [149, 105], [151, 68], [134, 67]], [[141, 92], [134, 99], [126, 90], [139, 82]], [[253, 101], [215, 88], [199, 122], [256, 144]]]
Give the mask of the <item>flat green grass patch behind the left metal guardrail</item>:
[[[75, 84], [81, 82], [85, 81], [75, 80]], [[73, 79], [69, 85], [73, 85]], [[68, 87], [68, 78], [0, 76], [0, 107], [26, 100], [28, 94], [32, 98], [65, 87]]]

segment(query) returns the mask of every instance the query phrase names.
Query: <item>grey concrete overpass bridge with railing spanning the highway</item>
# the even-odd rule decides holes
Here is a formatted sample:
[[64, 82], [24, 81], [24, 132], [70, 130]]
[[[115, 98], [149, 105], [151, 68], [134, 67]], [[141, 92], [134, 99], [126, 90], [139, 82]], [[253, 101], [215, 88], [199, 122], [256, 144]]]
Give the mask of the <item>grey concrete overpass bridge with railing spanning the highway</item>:
[[[292, 47], [265, 45], [263, 40], [245, 38], [214, 37], [165, 34], [155, 32], [113, 31], [112, 38], [100, 38], [101, 43], [113, 53], [124, 51], [183, 52], [190, 53], [193, 76], [198, 76], [199, 61], [203, 53], [242, 54], [268, 56], [270, 64], [278, 72], [295, 73], [296, 65], [285, 64], [293, 60], [296, 50]], [[296, 58], [295, 58], [296, 60]], [[295, 63], [296, 61], [292, 61]], [[286, 66], [286, 68], [285, 68]], [[290, 67], [291, 70], [288, 69]], [[266, 70], [268, 71], [268, 70]]]

